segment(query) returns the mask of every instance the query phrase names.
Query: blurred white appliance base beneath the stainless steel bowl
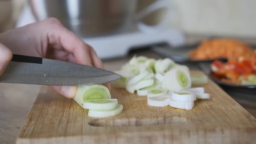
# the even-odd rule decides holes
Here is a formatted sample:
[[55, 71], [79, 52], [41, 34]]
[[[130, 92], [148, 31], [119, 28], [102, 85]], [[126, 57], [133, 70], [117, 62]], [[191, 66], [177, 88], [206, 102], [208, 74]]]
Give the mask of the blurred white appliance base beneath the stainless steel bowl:
[[[27, 3], [16, 23], [16, 27], [34, 22], [36, 22], [36, 19]], [[185, 43], [184, 35], [177, 29], [143, 32], [136, 25], [131, 26], [131, 29], [127, 29], [123, 33], [81, 39], [91, 45], [101, 59], [125, 56], [131, 48], [136, 49], [140, 46], [150, 46], [157, 43], [178, 46]]]

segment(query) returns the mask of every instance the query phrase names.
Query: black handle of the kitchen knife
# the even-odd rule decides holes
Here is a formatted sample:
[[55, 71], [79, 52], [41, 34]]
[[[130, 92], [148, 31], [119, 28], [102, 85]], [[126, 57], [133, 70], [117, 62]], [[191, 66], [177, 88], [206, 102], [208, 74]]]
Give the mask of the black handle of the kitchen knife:
[[34, 56], [16, 55], [16, 54], [13, 54], [13, 59], [11, 59], [11, 61], [43, 64], [43, 58], [34, 57]]

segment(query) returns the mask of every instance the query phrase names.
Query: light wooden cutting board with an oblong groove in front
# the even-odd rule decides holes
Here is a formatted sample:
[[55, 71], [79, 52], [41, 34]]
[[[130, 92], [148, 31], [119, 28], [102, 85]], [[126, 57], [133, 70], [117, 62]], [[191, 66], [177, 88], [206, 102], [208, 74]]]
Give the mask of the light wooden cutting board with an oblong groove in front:
[[192, 110], [152, 107], [146, 97], [112, 88], [112, 98], [118, 98], [123, 112], [99, 119], [43, 87], [16, 143], [255, 144], [256, 118], [211, 80], [203, 87], [211, 99], [195, 101]]

